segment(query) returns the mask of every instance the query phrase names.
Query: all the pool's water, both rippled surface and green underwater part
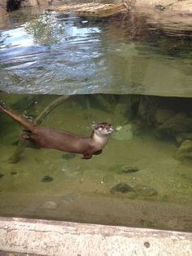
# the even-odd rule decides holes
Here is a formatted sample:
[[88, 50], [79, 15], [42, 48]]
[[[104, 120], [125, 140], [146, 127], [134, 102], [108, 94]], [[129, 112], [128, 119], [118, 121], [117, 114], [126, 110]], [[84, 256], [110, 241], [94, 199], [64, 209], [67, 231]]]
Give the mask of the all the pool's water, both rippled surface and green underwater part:
[[190, 144], [178, 155], [192, 137], [191, 99], [143, 96], [190, 97], [191, 39], [130, 18], [12, 14], [0, 33], [0, 88], [10, 92], [0, 99], [34, 120], [71, 95], [43, 126], [89, 135], [108, 121], [119, 131], [87, 161], [30, 144], [11, 164], [22, 129], [0, 113], [0, 215], [191, 232]]

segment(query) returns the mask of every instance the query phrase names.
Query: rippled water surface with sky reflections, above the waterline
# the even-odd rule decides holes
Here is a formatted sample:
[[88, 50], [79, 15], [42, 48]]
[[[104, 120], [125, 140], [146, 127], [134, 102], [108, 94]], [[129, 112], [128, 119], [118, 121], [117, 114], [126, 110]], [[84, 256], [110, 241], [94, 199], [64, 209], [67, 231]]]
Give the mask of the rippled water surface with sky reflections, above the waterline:
[[168, 36], [137, 14], [11, 18], [0, 32], [1, 90], [191, 95], [190, 35]]

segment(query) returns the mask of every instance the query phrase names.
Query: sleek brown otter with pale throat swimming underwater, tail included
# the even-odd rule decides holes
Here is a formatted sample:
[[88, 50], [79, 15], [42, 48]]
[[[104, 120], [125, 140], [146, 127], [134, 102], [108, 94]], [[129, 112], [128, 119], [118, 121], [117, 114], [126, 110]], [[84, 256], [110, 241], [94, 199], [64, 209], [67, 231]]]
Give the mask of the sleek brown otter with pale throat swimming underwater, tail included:
[[102, 153], [104, 146], [107, 144], [109, 136], [113, 131], [111, 124], [107, 122], [98, 123], [92, 127], [90, 136], [80, 136], [72, 134], [65, 130], [55, 130], [45, 126], [36, 126], [33, 122], [12, 112], [0, 104], [2, 112], [18, 121], [24, 126], [27, 133], [22, 135], [36, 143], [39, 148], [54, 148], [64, 152], [80, 153], [84, 159], [89, 159], [92, 155]]

